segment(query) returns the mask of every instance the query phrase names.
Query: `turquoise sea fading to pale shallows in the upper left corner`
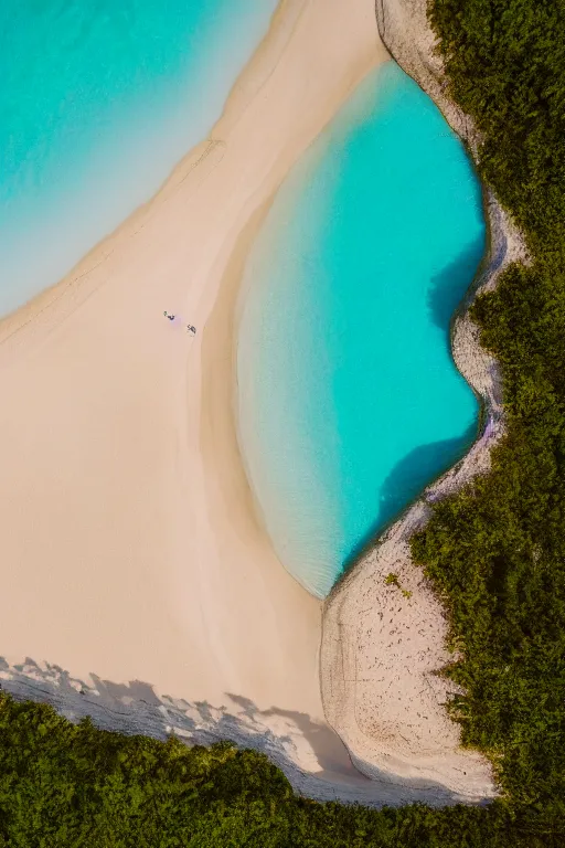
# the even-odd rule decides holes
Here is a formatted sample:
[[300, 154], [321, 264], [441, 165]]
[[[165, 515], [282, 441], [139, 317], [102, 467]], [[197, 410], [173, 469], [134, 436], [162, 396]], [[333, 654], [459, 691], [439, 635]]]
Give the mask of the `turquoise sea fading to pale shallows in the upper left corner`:
[[2, 0], [0, 312], [205, 138], [277, 0]]

